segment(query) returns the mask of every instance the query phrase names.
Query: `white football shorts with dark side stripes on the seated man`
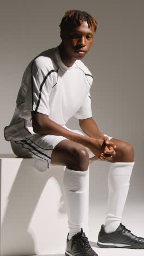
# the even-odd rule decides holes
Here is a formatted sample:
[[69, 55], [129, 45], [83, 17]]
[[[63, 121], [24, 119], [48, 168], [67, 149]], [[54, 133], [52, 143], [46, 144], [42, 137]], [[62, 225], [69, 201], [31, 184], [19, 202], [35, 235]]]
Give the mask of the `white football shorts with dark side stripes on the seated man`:
[[[65, 129], [68, 129], [69, 131], [78, 133], [80, 135], [88, 136], [82, 130], [71, 130], [65, 125], [63, 127]], [[109, 137], [109, 139], [112, 138], [110, 136], [107, 137]], [[45, 164], [49, 168], [51, 166], [52, 150], [59, 142], [63, 141], [63, 139], [67, 138], [63, 136], [39, 135], [38, 133], [34, 133], [21, 139], [20, 141], [11, 141], [11, 147], [13, 149], [13, 152], [20, 158], [37, 158], [45, 160], [43, 162], [45, 162]], [[89, 158], [92, 158], [94, 154], [88, 148], [87, 151], [89, 154]]]

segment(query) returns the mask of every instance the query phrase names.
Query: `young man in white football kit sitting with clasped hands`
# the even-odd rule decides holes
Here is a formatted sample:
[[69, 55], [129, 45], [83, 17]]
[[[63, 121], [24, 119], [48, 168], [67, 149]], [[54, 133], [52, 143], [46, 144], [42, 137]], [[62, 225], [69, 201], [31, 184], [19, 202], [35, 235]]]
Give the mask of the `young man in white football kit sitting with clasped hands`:
[[[65, 255], [98, 255], [82, 230], [89, 160], [111, 162], [109, 201], [100, 247], [144, 248], [144, 239], [121, 223], [134, 149], [127, 142], [103, 135], [92, 118], [92, 74], [82, 63], [93, 43], [98, 22], [85, 11], [69, 10], [61, 24], [62, 43], [29, 63], [22, 78], [17, 106], [5, 138], [16, 155], [66, 166], [63, 186], [69, 234]], [[79, 119], [81, 130], [70, 130], [69, 118]]]

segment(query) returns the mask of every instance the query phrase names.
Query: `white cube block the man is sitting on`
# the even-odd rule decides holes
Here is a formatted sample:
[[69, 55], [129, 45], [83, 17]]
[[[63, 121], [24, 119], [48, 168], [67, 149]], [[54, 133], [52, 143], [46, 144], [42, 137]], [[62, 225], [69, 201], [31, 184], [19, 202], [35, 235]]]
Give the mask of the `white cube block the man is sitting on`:
[[[64, 166], [45, 172], [35, 159], [1, 158], [1, 256], [64, 253], [68, 218]], [[88, 192], [87, 192], [88, 195]], [[88, 196], [84, 226], [88, 231]]]

